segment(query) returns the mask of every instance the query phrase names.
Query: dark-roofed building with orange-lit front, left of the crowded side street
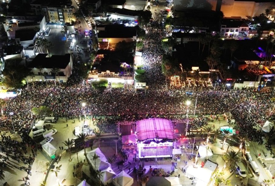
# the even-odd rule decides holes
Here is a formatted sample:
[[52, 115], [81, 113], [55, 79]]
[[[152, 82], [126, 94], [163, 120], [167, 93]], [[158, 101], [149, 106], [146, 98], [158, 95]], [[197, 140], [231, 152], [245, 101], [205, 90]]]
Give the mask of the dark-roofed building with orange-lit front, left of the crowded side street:
[[112, 48], [120, 41], [134, 42], [137, 35], [135, 27], [124, 25], [103, 25], [103, 27], [97, 27], [97, 32], [99, 45], [104, 45], [101, 42], [105, 42]]

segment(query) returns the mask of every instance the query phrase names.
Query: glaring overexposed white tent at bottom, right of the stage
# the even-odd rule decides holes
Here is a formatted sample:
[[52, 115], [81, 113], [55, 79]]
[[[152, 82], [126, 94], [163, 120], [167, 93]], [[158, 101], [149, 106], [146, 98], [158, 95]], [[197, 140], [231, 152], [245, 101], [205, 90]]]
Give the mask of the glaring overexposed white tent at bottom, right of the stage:
[[194, 168], [193, 166], [187, 167], [187, 170], [185, 172], [185, 176], [187, 178], [195, 177], [197, 182], [196, 185], [200, 185], [200, 186], [208, 185], [211, 175], [212, 175], [212, 171], [201, 167]]

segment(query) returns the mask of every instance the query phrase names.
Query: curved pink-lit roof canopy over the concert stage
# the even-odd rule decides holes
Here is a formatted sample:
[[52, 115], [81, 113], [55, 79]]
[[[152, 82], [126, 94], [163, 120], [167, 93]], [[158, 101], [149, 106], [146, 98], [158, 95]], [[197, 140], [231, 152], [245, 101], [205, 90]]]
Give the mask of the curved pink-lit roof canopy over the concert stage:
[[169, 120], [160, 118], [150, 118], [137, 121], [137, 136], [138, 140], [154, 139], [174, 139]]

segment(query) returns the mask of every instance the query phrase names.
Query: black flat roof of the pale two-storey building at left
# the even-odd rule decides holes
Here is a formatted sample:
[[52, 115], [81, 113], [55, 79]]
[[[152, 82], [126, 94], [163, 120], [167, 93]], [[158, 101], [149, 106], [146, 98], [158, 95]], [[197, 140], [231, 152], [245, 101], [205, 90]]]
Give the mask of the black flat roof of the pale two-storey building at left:
[[28, 68], [60, 68], [65, 69], [70, 63], [70, 54], [53, 55], [46, 57], [48, 54], [39, 53], [28, 65]]

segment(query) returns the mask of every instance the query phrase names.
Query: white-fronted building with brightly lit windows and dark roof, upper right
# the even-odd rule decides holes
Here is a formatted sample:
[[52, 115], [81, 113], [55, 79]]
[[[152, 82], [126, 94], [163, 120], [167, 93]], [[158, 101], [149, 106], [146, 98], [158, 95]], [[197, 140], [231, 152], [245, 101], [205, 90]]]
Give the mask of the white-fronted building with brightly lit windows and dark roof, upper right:
[[221, 36], [239, 36], [239, 33], [248, 35], [249, 26], [242, 20], [222, 19]]

